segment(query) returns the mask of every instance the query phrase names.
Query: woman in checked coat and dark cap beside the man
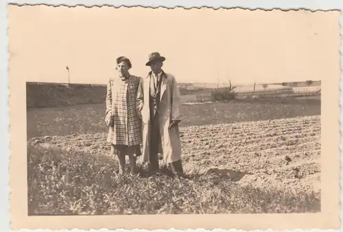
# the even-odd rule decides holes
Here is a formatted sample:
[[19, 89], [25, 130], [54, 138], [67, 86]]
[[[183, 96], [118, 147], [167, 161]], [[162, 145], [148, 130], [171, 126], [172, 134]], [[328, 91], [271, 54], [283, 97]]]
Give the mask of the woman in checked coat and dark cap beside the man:
[[108, 143], [111, 153], [117, 155], [119, 174], [125, 169], [129, 156], [130, 174], [137, 173], [137, 156], [141, 155], [141, 119], [137, 115], [137, 90], [141, 78], [129, 73], [132, 65], [128, 58], [117, 58], [118, 75], [110, 78], [106, 94], [106, 124], [109, 126]]

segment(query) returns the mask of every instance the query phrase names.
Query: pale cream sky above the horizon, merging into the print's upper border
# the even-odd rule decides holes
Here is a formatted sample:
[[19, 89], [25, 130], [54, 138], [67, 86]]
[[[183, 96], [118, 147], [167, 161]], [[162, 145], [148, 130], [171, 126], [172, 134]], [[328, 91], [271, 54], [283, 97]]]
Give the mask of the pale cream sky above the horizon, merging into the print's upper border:
[[[323, 80], [340, 69], [340, 12], [9, 6], [10, 78], [106, 84], [115, 60], [148, 54], [178, 82]], [[339, 76], [337, 78], [340, 78]]]

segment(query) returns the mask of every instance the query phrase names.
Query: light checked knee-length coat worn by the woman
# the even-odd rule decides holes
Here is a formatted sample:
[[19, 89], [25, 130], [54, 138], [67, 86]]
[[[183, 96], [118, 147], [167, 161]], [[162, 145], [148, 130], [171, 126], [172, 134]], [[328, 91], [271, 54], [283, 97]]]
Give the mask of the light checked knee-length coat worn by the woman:
[[107, 142], [114, 145], [137, 146], [141, 143], [141, 119], [137, 115], [137, 90], [141, 78], [125, 80], [110, 78], [107, 84], [106, 117], [112, 113], [114, 124], [109, 127]]

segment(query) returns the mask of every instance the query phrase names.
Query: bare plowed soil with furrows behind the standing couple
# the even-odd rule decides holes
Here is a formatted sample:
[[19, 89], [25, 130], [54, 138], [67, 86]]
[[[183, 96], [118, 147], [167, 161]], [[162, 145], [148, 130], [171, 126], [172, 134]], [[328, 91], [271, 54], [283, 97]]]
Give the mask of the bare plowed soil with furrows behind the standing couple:
[[[320, 192], [320, 116], [180, 128], [185, 172]], [[33, 137], [32, 146], [108, 154], [106, 133]]]

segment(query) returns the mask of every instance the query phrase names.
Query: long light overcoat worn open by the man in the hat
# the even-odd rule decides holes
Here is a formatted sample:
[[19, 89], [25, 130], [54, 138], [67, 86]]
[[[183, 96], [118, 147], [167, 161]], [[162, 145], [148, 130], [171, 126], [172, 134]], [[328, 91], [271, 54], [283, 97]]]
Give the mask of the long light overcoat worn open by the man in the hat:
[[[150, 78], [141, 78], [137, 91], [137, 108], [142, 118], [143, 161], [149, 161], [150, 146]], [[158, 119], [161, 133], [163, 160], [171, 163], [181, 159], [181, 142], [178, 126], [169, 129], [171, 120], [180, 120], [180, 92], [175, 77], [169, 73], [162, 73], [161, 95], [158, 108]]]

